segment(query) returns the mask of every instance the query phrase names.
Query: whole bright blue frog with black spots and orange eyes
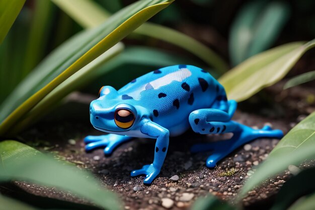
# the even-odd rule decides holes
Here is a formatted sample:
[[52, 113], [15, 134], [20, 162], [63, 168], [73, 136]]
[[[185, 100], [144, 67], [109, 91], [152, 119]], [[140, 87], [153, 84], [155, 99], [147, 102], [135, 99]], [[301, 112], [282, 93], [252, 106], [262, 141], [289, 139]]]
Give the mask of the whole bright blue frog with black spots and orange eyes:
[[87, 136], [86, 150], [105, 147], [104, 153], [110, 155], [132, 137], [156, 139], [153, 163], [131, 172], [131, 176], [146, 175], [143, 182], [151, 184], [162, 168], [169, 136], [180, 135], [190, 127], [200, 134], [233, 133], [228, 141], [191, 148], [192, 152], [214, 151], [206, 161], [209, 168], [255, 138], [283, 136], [281, 130], [269, 126], [253, 129], [232, 121], [236, 108], [237, 102], [227, 100], [224, 88], [203, 69], [192, 65], [164, 67], [118, 91], [110, 86], [100, 90], [100, 97], [90, 106], [91, 123], [110, 134]]

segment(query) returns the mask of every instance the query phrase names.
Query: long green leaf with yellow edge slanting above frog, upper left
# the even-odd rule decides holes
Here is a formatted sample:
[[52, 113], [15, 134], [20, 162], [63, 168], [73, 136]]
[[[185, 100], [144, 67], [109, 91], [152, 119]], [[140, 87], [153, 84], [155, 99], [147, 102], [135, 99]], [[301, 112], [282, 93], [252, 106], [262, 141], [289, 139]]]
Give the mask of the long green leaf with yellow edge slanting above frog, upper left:
[[[157, 12], [166, 8], [172, 2], [173, 0], [153, 0], [150, 2], [143, 0], [136, 2], [113, 15], [99, 27], [91, 31], [84, 32], [81, 36], [76, 36], [74, 41], [71, 40], [71, 44], [67, 44], [66, 47], [61, 48], [62, 53], [54, 54], [53, 57], [57, 57], [58, 59], [50, 58], [44, 60], [36, 71], [34, 71], [34, 74], [36, 74], [39, 69], [48, 68], [49, 70], [46, 70], [41, 74], [41, 76], [44, 75], [44, 77], [40, 77], [39, 75], [34, 76], [34, 74], [31, 74], [28, 77], [28, 80], [19, 86], [17, 90], [11, 94], [12, 96], [5, 101], [4, 107], [2, 107], [2, 113], [0, 114], [0, 120], [8, 116], [8, 114], [10, 114], [10, 112], [17, 106], [18, 108], [16, 108], [2, 122], [0, 125], [0, 135], [4, 135], [8, 130], [10, 130], [14, 123], [29, 112], [38, 102], [40, 102], [40, 100], [42, 100], [63, 81], [100, 56], [103, 52], [114, 46], [132, 30], [139, 27], [143, 22], [147, 21]], [[84, 36], [84, 38], [82, 36]], [[73, 46], [73, 42], [78, 43], [78, 45], [69, 49], [69, 45]], [[51, 74], [53, 73], [60, 74], [51, 77]], [[48, 80], [45, 76], [50, 80]], [[33, 77], [37, 77], [37, 82], [39, 82], [39, 84], [34, 83]], [[45, 83], [43, 84], [43, 82]], [[31, 87], [31, 90], [25, 90], [23, 88], [24, 85], [26, 87]], [[32, 95], [34, 88], [37, 90], [41, 87], [43, 88]], [[19, 94], [16, 95], [16, 92]], [[18, 101], [21, 102], [23, 99], [27, 99], [23, 102], [23, 104], [20, 105], [20, 103], [17, 103]]]

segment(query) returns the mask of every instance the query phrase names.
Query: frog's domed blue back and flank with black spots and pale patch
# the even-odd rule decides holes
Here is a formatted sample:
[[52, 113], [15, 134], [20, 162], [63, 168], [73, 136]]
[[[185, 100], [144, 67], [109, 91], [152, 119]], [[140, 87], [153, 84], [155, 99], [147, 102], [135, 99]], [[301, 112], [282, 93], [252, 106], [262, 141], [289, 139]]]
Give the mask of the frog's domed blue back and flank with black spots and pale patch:
[[151, 119], [171, 128], [189, 126], [189, 114], [210, 108], [224, 88], [206, 71], [193, 65], [173, 65], [143, 75], [118, 93], [133, 105], [145, 107]]

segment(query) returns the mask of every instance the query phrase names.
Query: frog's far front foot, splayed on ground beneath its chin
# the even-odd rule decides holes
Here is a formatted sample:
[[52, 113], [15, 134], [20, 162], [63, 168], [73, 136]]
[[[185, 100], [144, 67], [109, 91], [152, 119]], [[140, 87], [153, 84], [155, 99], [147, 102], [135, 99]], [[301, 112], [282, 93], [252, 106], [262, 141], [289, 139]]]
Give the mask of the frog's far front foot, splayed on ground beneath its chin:
[[113, 150], [120, 144], [127, 142], [132, 137], [126, 135], [106, 134], [106, 135], [88, 135], [84, 138], [87, 144], [86, 151], [92, 151], [96, 148], [104, 148], [105, 155], [111, 155]]

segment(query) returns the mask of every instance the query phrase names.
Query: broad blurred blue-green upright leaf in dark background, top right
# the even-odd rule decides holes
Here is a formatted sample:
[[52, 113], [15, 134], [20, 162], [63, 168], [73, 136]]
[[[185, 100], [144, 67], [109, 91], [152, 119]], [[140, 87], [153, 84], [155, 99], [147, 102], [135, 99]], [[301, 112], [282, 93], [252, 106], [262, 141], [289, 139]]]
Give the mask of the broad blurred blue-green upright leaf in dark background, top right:
[[232, 23], [229, 51], [233, 65], [269, 48], [289, 17], [285, 2], [264, 0], [245, 5]]

